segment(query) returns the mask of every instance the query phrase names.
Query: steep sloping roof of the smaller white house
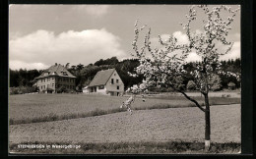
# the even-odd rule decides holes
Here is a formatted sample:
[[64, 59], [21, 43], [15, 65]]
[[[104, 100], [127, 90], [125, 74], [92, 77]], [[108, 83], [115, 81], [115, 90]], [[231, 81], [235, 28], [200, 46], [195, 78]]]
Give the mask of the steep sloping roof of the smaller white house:
[[96, 73], [96, 77], [91, 81], [89, 87], [96, 85], [104, 85], [114, 73], [115, 69], [101, 70]]

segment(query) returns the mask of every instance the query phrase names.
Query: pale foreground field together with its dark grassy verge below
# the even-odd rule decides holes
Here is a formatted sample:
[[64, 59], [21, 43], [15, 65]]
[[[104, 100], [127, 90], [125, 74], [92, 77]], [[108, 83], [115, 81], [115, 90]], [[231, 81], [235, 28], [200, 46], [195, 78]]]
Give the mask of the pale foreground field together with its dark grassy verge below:
[[[212, 107], [211, 120], [214, 147], [219, 147], [222, 150], [220, 153], [224, 153], [224, 149], [226, 152], [237, 153], [241, 131], [240, 104]], [[198, 153], [203, 152], [204, 147], [204, 113], [195, 107], [137, 110], [133, 115], [120, 112], [72, 120], [12, 125], [9, 132], [11, 151], [14, 152], [21, 151], [17, 149], [18, 143], [67, 143], [81, 144], [82, 148], [63, 151], [27, 149], [23, 152], [176, 153], [175, 150], [182, 150], [180, 153]], [[230, 150], [227, 147], [234, 148]]]

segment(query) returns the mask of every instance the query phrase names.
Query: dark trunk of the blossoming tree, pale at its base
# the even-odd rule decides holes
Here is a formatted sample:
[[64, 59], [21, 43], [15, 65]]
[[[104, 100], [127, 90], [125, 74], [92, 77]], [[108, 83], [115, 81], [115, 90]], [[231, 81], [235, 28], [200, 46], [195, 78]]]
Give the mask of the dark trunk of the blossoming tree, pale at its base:
[[211, 124], [210, 124], [210, 105], [209, 105], [209, 98], [208, 98], [208, 93], [205, 95], [205, 104], [206, 104], [206, 109], [205, 109], [205, 150], [209, 151], [210, 149], [210, 135], [211, 135]]

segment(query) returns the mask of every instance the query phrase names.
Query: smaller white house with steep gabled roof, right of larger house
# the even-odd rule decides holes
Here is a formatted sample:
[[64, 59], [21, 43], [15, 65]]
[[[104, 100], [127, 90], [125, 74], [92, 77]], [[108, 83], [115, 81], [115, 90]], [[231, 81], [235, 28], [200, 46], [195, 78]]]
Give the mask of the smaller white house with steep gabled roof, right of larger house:
[[115, 69], [102, 70], [83, 88], [83, 92], [119, 96], [124, 92], [124, 83]]

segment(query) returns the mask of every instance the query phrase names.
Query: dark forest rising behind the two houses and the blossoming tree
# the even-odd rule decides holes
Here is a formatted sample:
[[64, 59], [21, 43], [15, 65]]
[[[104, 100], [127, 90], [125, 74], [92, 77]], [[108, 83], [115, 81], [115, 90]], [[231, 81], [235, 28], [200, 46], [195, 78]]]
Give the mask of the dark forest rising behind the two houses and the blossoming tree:
[[[227, 61], [221, 61], [223, 70], [225, 72], [239, 73], [241, 74], [241, 60], [240, 59], [229, 59]], [[190, 62], [186, 65], [185, 70], [190, 72], [193, 71], [194, 62]], [[125, 89], [132, 86], [133, 84], [138, 84], [142, 82], [143, 77], [133, 78], [128, 75], [127, 72], [134, 72], [134, 69], [139, 66], [139, 61], [137, 59], [125, 59], [119, 61], [116, 57], [111, 57], [108, 59], [99, 59], [94, 64], [89, 64], [87, 66], [83, 64], [72, 65], [67, 63], [65, 67], [67, 70], [77, 77], [76, 79], [76, 90], [82, 91], [82, 88], [88, 85], [92, 79], [96, 76], [96, 73], [100, 70], [115, 68], [120, 78], [124, 82]], [[32, 84], [36, 82], [34, 78], [38, 77], [43, 70], [11, 70], [10, 69], [10, 87], [20, 88], [22, 92], [33, 92], [36, 88], [32, 87]], [[183, 79], [184, 88], [188, 90], [194, 90], [193, 82], [190, 81], [189, 74], [188, 78]], [[192, 78], [192, 77], [191, 77]], [[215, 91], [223, 89], [235, 89], [240, 88], [240, 82], [233, 77], [217, 76], [215, 79]], [[169, 88], [151, 88], [152, 91], [171, 91]]]

